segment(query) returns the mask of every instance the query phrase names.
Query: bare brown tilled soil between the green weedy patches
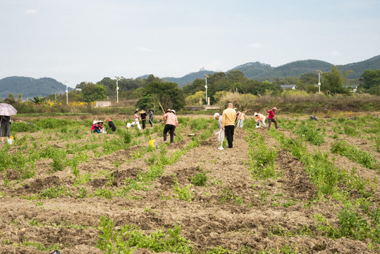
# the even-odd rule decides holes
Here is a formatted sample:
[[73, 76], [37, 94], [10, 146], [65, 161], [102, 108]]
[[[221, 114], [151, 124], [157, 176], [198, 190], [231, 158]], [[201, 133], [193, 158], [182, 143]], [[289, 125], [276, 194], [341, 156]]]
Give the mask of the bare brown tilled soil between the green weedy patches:
[[[179, 224], [181, 235], [190, 241], [194, 253], [219, 246], [233, 252], [245, 248], [245, 253], [276, 253], [286, 245], [300, 253], [372, 253], [365, 241], [333, 240], [321, 235], [313, 215], [322, 214], [336, 224], [340, 204], [329, 199], [316, 202], [317, 188], [309, 181], [302, 163], [283, 150], [266, 129], [257, 131], [265, 136], [268, 147], [278, 149], [277, 178], [252, 179], [248, 164], [252, 158], [244, 129], [235, 130], [232, 149], [219, 151], [212, 135], [174, 164], [166, 165], [164, 174], [148, 189], [132, 189], [126, 197], [78, 198], [75, 194], [42, 200], [23, 198], [61, 186], [77, 194], [80, 188], [85, 188], [88, 195], [99, 188], [116, 191], [127, 185], [125, 179], [137, 180], [139, 173], [149, 168], [150, 153], [130, 160], [137, 147], [79, 165], [82, 174], [95, 174], [99, 169], [112, 171], [111, 183], [106, 176], [99, 176], [75, 186], [69, 168], [56, 173], [40, 168], [41, 174], [17, 183], [17, 176], [12, 178], [10, 171], [8, 179], [15, 179], [11, 185], [0, 182], [0, 253], [51, 253], [25, 246], [27, 242], [45, 247], [58, 244], [61, 253], [103, 253], [95, 248], [99, 238], [96, 228], [103, 215], [113, 219], [116, 227], [132, 224], [145, 234]], [[190, 143], [191, 138], [183, 136], [183, 140], [176, 138], [173, 145], [167, 146], [167, 156]], [[115, 161], [120, 166], [116, 167]], [[48, 166], [49, 163], [39, 163], [39, 167]], [[198, 173], [207, 174], [207, 185], [190, 186], [191, 202], [179, 200], [175, 183], [180, 188], [187, 186], [190, 177]], [[308, 233], [301, 234], [302, 231]], [[135, 253], [153, 252], [137, 249]]]

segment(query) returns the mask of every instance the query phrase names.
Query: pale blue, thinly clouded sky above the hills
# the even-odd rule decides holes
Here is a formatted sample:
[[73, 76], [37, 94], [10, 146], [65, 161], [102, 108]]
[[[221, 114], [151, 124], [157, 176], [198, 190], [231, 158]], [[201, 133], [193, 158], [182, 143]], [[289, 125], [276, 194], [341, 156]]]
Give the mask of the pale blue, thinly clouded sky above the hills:
[[380, 54], [380, 0], [0, 0], [0, 79], [180, 78]]

